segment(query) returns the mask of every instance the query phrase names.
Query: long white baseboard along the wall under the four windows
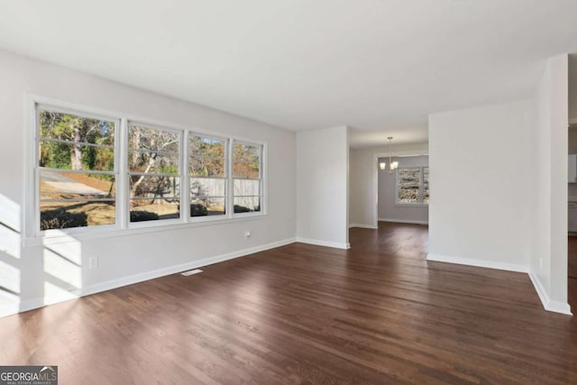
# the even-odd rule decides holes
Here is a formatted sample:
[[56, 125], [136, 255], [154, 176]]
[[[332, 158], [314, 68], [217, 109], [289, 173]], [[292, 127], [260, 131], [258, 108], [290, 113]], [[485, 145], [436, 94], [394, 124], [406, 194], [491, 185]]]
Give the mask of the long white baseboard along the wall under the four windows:
[[251, 247], [248, 249], [239, 250], [237, 252], [229, 252], [226, 254], [216, 255], [214, 257], [205, 258], [198, 261], [189, 261], [186, 263], [181, 263], [179, 265], [169, 266], [162, 269], [146, 271], [138, 274], [133, 274], [128, 277], [119, 278], [116, 280], [107, 280], [105, 282], [97, 283], [95, 285], [90, 285], [78, 290], [70, 290], [69, 298], [64, 298], [60, 300], [55, 300], [51, 302], [46, 302], [43, 298], [32, 298], [24, 300], [20, 303], [14, 303], [10, 305], [5, 305], [0, 307], [0, 317], [12, 316], [17, 313], [22, 313], [24, 311], [32, 310], [39, 307], [44, 307], [47, 305], [53, 305], [55, 303], [64, 302], [69, 299], [89, 296], [91, 294], [96, 294], [101, 291], [111, 290], [120, 288], [127, 285], [133, 285], [134, 283], [142, 282], [144, 280], [154, 280], [155, 278], [164, 277], [166, 275], [175, 274], [184, 270], [197, 269], [203, 266], [212, 265], [217, 262], [233, 260], [234, 258], [240, 258], [246, 255], [254, 254], [255, 252], [264, 252], [266, 250], [274, 249], [276, 247], [284, 246], [290, 243], [297, 242], [296, 238], [289, 238], [278, 242], [266, 243], [260, 246]]

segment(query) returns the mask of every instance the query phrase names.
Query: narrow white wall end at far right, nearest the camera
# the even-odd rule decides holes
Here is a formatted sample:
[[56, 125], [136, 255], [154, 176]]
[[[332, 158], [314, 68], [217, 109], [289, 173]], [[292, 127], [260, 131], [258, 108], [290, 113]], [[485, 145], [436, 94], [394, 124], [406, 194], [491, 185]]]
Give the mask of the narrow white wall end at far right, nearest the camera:
[[536, 95], [535, 211], [530, 275], [548, 310], [567, 305], [568, 56], [546, 62]]

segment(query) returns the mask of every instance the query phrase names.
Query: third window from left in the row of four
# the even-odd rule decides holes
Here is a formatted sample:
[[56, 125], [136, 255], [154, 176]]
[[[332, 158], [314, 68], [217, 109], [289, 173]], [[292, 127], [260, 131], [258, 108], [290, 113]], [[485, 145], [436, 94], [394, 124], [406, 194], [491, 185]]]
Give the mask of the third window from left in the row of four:
[[226, 214], [226, 169], [226, 141], [188, 137], [190, 216]]

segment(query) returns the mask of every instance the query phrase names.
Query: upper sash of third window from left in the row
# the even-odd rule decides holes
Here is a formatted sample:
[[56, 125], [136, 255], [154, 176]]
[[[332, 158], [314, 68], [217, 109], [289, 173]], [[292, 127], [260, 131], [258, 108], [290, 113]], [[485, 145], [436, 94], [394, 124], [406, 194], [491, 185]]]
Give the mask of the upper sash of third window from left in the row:
[[220, 139], [190, 136], [188, 172], [195, 177], [224, 178], [225, 142]]

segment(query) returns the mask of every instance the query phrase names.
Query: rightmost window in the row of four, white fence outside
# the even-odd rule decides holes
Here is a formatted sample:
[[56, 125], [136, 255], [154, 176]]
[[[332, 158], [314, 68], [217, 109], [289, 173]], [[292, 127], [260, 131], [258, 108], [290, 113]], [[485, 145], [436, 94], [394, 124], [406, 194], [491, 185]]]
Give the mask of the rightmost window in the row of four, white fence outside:
[[261, 160], [261, 145], [241, 142], [234, 143], [234, 213], [261, 211]]

